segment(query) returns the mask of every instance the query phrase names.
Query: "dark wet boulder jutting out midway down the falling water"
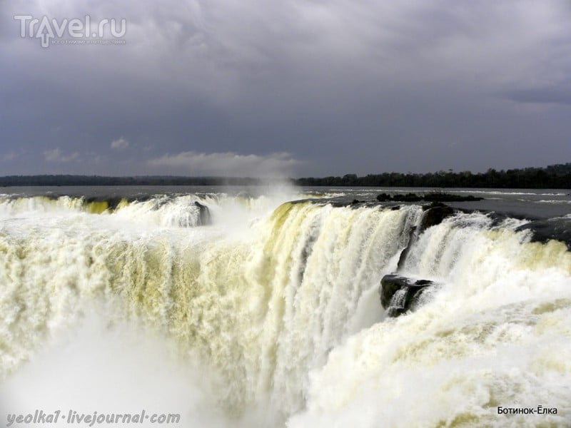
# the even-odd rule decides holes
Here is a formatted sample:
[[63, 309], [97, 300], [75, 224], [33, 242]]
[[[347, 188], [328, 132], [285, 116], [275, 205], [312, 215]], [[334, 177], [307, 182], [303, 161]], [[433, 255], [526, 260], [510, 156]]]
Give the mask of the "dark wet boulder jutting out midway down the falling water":
[[413, 309], [430, 285], [434, 285], [434, 282], [413, 280], [401, 275], [385, 275], [380, 280], [380, 304], [387, 310], [388, 317], [398, 317]]

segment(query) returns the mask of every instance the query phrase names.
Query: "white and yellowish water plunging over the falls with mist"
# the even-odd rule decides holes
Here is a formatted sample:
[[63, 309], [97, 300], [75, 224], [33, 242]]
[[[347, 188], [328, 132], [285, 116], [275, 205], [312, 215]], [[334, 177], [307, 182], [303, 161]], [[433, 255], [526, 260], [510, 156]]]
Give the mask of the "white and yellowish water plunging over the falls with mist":
[[[2, 195], [0, 410], [144, 407], [181, 427], [571, 426], [565, 243], [458, 212], [399, 270], [437, 285], [385, 318], [380, 278], [423, 209], [309, 197]], [[538, 405], [557, 413], [497, 412]]]

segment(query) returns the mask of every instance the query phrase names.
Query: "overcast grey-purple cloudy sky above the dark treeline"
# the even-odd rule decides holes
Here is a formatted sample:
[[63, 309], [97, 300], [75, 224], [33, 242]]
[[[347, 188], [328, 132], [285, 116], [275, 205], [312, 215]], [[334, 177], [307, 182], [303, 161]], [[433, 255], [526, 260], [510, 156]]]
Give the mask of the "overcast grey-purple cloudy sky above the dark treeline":
[[571, 162], [570, 23], [569, 0], [0, 0], [0, 175]]

